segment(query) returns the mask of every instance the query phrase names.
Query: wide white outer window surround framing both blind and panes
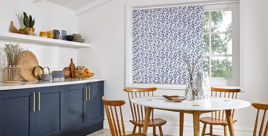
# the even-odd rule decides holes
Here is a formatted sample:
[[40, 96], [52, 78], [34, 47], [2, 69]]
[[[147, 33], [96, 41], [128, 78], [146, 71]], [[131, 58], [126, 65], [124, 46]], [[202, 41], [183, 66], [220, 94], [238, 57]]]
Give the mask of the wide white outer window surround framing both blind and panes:
[[[226, 2], [217, 2], [217, 1], [208, 1], [210, 4], [220, 4], [220, 3], [232, 3], [237, 1], [226, 1]], [[240, 79], [238, 86], [213, 86], [211, 87], [219, 87], [219, 88], [240, 88], [242, 91], [245, 89], [245, 79], [244, 79], [244, 52], [245, 52], [245, 29], [244, 29], [244, 11], [245, 11], [245, 0], [240, 0], [240, 56], [239, 56], [239, 64], [240, 65]], [[186, 5], [187, 4], [187, 5]], [[154, 83], [132, 83], [132, 13], [133, 9], [142, 9], [146, 7], [155, 8], [155, 7], [177, 7], [177, 6], [191, 6], [191, 5], [203, 5], [202, 3], [192, 2], [192, 3], [174, 3], [174, 0], [166, 0], [166, 1], [154, 1], [154, 2], [133, 2], [125, 4], [125, 87], [128, 88], [148, 88], [148, 87], [157, 87], [159, 89], [175, 89], [175, 90], [184, 90], [185, 84], [154, 84]], [[176, 6], [167, 6], [167, 5], [176, 5]], [[232, 12], [233, 13], [233, 12]]]

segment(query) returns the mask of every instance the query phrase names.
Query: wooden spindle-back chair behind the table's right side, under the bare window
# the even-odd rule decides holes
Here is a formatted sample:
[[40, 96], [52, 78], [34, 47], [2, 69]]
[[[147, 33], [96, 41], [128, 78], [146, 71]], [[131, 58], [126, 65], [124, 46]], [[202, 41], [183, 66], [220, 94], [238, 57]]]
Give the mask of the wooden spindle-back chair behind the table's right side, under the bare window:
[[[211, 90], [211, 96], [215, 95], [215, 97], [224, 97], [224, 98], [232, 98], [232, 99], [236, 99], [237, 93], [241, 91], [241, 89], [223, 89], [223, 88], [214, 88], [214, 87], [210, 87], [210, 90]], [[213, 93], [214, 93], [214, 95], [213, 95]], [[213, 113], [215, 116], [213, 116]], [[234, 113], [235, 113], [235, 109], [232, 110], [232, 119], [234, 118]], [[227, 127], [226, 126], [228, 125], [228, 123], [226, 120], [226, 116], [224, 117], [224, 110], [214, 111], [214, 112], [211, 112], [211, 114], [212, 114], [211, 117], [200, 118], [200, 122], [204, 123], [202, 136], [204, 136], [204, 135], [219, 136], [219, 135], [214, 135], [212, 133], [213, 132], [213, 130], [212, 130], [213, 125], [224, 126], [224, 136], [227, 136]], [[236, 122], [236, 121], [237, 120], [233, 120], [233, 122]], [[210, 125], [210, 132], [205, 134], [207, 124]]]

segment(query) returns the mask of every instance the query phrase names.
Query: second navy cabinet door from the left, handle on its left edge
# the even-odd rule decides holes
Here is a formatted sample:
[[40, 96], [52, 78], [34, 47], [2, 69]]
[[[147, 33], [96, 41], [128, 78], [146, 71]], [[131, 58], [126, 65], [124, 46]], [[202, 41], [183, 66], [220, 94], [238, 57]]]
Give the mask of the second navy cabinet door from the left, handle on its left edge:
[[64, 118], [64, 110], [61, 109], [64, 106], [61, 102], [64, 98], [63, 86], [39, 87], [35, 88], [35, 92], [35, 135], [64, 135], [64, 128], [61, 128]]

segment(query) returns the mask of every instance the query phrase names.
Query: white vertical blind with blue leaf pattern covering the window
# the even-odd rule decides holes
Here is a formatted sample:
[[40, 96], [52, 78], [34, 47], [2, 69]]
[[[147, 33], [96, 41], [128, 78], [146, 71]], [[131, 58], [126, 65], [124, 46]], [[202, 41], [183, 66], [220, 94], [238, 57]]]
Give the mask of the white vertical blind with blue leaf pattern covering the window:
[[[203, 53], [203, 6], [133, 10], [132, 82], [187, 84]], [[199, 59], [194, 71], [203, 71]]]

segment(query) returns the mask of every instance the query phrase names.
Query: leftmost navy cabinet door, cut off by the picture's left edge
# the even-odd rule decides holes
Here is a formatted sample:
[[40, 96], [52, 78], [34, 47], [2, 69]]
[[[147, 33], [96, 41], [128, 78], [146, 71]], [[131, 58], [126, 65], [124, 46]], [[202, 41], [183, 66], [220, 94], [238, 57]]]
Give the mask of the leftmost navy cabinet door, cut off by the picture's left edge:
[[0, 135], [34, 135], [34, 88], [0, 91]]

